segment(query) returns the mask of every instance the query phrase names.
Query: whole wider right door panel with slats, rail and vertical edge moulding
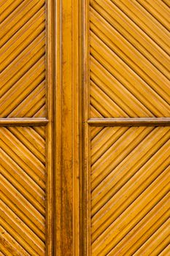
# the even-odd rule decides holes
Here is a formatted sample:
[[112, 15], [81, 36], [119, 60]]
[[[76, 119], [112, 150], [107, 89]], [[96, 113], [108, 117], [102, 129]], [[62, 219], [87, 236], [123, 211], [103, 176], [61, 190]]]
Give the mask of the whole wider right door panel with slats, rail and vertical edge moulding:
[[169, 255], [169, 4], [85, 1], [83, 253]]

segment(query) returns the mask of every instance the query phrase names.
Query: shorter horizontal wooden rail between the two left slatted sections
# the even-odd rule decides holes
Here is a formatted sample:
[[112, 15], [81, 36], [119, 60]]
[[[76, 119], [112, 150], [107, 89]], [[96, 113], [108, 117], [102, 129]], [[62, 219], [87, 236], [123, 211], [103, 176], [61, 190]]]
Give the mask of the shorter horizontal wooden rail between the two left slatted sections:
[[44, 127], [47, 123], [47, 118], [0, 118], [0, 127]]

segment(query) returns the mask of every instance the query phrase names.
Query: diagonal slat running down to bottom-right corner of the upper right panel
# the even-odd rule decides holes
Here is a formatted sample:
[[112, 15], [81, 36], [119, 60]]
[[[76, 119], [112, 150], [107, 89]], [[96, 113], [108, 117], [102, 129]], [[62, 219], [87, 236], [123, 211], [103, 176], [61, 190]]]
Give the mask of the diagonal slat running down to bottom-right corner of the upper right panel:
[[[124, 86], [129, 91], [133, 92], [135, 97], [139, 98], [139, 101], [143, 103], [143, 108], [147, 113], [148, 110], [151, 109], [152, 111], [155, 111], [155, 115], [158, 115], [160, 117], [163, 116], [163, 113], [161, 113], [161, 109], [158, 109], [158, 104], [155, 107], [154, 101], [150, 102], [149, 100], [149, 97], [152, 97], [152, 89], [150, 89], [150, 86], [148, 86], [144, 82], [144, 80], [136, 75], [136, 73], [132, 69], [130, 69], [130, 67], [125, 65], [124, 61], [118, 58], [115, 53], [110, 50], [110, 48], [108, 48], [103, 42], [101, 42], [100, 39], [98, 39], [98, 37], [96, 37], [96, 35], [91, 35], [91, 54], [96, 59], [98, 59], [105, 68], [109, 69], [109, 72], [117, 76], [117, 78], [124, 84]], [[94, 48], [96, 49], [96, 51], [93, 50]], [[112, 56], [112, 58], [110, 58], [110, 56]], [[169, 102], [169, 91], [168, 93], [163, 92], [163, 97], [165, 97], [165, 100]], [[145, 106], [148, 110], [146, 110]], [[166, 104], [166, 108], [164, 109], [166, 116], [169, 116], [169, 108], [169, 105]]]

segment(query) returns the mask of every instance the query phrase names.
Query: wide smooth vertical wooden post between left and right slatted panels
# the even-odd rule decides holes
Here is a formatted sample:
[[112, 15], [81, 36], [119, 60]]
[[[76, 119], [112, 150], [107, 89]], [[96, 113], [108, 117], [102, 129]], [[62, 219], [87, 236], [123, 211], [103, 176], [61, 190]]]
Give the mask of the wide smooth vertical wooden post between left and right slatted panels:
[[55, 5], [54, 255], [81, 255], [81, 1]]

